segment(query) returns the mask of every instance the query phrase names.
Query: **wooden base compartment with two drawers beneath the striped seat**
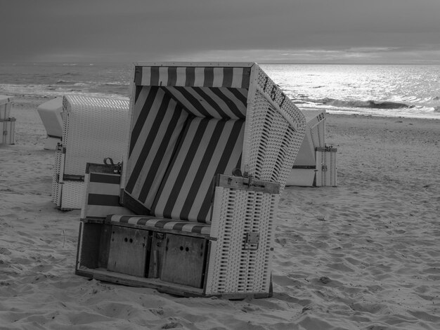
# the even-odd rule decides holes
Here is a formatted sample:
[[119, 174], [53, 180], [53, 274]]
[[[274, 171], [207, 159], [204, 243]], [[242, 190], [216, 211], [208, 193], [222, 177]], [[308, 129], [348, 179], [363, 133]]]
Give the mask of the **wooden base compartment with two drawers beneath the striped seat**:
[[[77, 268], [202, 288], [209, 239], [83, 219]], [[81, 273], [81, 272], [79, 272]], [[94, 274], [94, 273], [93, 273]], [[81, 274], [80, 274], [81, 275]]]

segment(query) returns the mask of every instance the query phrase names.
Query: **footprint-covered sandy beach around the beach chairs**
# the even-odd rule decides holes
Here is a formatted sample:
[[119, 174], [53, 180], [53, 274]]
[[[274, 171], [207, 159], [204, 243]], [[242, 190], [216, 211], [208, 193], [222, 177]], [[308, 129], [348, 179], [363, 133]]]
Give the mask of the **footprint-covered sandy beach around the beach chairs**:
[[329, 114], [338, 187], [287, 187], [273, 297], [179, 298], [74, 274], [79, 211], [15, 97], [0, 145], [0, 329], [440, 329], [440, 121]]

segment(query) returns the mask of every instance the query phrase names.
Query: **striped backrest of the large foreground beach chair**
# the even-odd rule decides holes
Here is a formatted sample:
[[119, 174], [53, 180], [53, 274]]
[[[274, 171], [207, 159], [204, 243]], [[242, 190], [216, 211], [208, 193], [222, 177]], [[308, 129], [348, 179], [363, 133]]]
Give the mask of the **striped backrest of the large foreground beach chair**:
[[193, 118], [157, 191], [151, 213], [159, 218], [209, 223], [212, 180], [240, 168], [244, 119]]

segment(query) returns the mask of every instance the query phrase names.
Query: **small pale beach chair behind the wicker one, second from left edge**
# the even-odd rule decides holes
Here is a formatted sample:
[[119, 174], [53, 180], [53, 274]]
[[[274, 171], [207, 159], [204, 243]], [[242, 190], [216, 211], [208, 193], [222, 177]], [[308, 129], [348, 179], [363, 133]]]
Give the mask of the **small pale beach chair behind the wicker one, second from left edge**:
[[56, 146], [63, 138], [63, 98], [54, 98], [37, 107], [37, 112], [44, 128], [46, 128], [47, 138], [44, 143], [45, 150], [56, 150]]

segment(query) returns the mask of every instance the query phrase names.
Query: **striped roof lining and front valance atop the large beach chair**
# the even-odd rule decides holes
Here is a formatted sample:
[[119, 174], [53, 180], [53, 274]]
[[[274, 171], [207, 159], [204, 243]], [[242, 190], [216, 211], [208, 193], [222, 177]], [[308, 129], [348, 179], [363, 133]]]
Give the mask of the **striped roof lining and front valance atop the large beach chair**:
[[250, 67], [137, 66], [134, 82], [160, 86], [197, 117], [243, 119], [247, 109]]

